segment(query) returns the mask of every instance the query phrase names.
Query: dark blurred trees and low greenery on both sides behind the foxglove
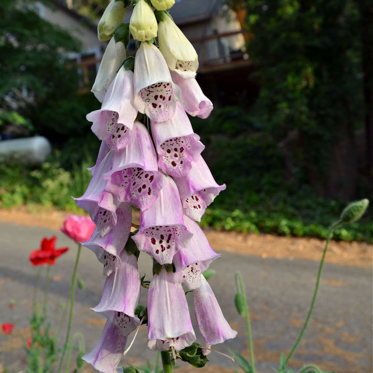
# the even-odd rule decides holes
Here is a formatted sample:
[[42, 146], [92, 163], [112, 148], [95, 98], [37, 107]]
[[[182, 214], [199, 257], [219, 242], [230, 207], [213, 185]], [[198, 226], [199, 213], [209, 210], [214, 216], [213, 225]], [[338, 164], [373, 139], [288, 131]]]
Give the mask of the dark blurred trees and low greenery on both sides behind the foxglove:
[[[90, 179], [86, 168], [99, 147], [85, 115], [99, 103], [82, 93], [77, 69], [66, 64], [66, 52], [78, 51], [79, 43], [40, 19], [30, 4], [0, 4], [0, 133], [16, 124], [46, 136], [54, 153], [38, 169], [0, 165], [0, 207], [42, 204], [77, 211], [70, 196], [83, 194]], [[76, 3], [82, 13], [102, 12], [99, 1], [84, 4]], [[247, 10], [247, 48], [256, 65], [250, 79], [261, 88], [250, 107], [242, 102], [219, 107], [206, 120], [191, 119], [211, 172], [227, 184], [202, 225], [325, 237], [348, 200], [372, 199], [369, 147], [361, 158], [357, 136], [369, 130], [364, 1], [232, 5]], [[292, 136], [295, 141], [283, 145]], [[336, 159], [344, 165], [339, 173]], [[371, 241], [371, 220], [372, 209], [335, 238]]]

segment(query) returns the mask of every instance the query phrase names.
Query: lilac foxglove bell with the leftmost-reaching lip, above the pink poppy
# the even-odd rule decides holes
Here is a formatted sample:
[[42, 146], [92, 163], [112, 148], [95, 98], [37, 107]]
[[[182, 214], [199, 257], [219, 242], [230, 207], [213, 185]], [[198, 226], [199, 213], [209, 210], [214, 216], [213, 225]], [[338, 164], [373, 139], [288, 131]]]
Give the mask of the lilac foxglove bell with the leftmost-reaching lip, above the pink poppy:
[[[97, 212], [100, 208], [109, 210], [114, 216], [114, 223], [116, 221], [115, 210], [118, 203], [111, 193], [105, 191], [106, 180], [103, 178], [104, 173], [109, 172], [112, 168], [113, 155], [114, 152], [110, 151], [100, 164], [96, 162], [93, 169], [93, 176], [88, 184], [87, 190], [82, 197], [74, 198], [78, 207], [87, 211], [96, 224]], [[99, 154], [99, 157], [100, 156]]]

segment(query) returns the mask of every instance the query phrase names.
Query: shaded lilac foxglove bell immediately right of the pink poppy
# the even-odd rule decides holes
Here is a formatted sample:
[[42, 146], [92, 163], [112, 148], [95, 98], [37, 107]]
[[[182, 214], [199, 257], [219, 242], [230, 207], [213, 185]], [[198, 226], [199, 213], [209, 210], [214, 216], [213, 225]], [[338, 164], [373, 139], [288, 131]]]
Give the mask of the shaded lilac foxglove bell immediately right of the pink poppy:
[[132, 206], [123, 202], [116, 210], [117, 223], [105, 235], [100, 234], [100, 225], [97, 224], [91, 238], [83, 245], [92, 250], [97, 259], [104, 265], [103, 273], [108, 276], [120, 267], [122, 262], [120, 254], [128, 240], [132, 225]]

